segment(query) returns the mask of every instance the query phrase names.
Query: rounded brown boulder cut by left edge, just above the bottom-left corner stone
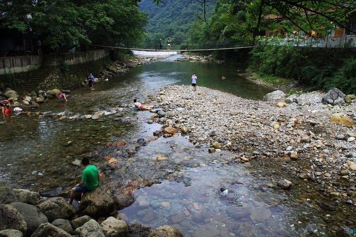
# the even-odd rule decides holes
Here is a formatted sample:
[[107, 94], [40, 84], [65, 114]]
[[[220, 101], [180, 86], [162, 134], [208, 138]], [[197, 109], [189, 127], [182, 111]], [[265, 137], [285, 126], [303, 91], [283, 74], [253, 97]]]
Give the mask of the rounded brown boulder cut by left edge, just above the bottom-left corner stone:
[[0, 230], [4, 229], [17, 229], [24, 235], [27, 231], [27, 225], [21, 213], [8, 204], [0, 204]]

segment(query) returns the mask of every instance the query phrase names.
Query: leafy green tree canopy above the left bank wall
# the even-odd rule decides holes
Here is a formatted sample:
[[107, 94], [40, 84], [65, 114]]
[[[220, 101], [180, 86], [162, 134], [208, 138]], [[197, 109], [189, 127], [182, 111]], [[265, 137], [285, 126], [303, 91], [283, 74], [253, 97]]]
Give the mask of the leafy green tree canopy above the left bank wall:
[[146, 23], [134, 0], [0, 1], [0, 27], [35, 33], [50, 49], [134, 41]]

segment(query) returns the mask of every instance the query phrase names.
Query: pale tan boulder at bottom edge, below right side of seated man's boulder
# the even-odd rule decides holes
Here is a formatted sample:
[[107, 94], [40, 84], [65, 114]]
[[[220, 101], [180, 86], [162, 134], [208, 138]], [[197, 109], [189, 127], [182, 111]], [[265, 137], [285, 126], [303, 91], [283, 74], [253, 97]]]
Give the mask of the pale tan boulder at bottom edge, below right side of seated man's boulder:
[[101, 224], [101, 230], [105, 236], [126, 237], [128, 234], [128, 226], [125, 221], [117, 220], [114, 217], [109, 217]]

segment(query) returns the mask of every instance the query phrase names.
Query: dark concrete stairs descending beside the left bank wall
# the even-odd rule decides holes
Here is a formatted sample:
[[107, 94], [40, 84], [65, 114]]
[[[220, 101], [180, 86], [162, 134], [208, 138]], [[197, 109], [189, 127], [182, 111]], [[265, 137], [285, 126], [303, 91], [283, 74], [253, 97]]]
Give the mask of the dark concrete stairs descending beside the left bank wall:
[[38, 70], [33, 72], [32, 76], [28, 78], [28, 81], [25, 81], [22, 86], [22, 91], [31, 92], [34, 90], [40, 82], [55, 70], [56, 64], [57, 60], [55, 55], [44, 55], [41, 66]]

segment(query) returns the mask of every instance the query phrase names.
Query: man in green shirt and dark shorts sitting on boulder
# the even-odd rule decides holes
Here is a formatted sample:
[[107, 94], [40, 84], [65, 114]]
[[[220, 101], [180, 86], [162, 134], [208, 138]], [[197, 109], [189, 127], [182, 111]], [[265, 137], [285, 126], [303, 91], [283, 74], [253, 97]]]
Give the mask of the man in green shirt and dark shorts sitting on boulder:
[[90, 164], [87, 157], [84, 157], [81, 160], [81, 163], [84, 166], [84, 170], [81, 175], [81, 182], [72, 188], [71, 197], [68, 201], [69, 204], [72, 204], [76, 193], [81, 193], [81, 197], [83, 197], [84, 193], [94, 191], [99, 186], [98, 168], [95, 165]]

